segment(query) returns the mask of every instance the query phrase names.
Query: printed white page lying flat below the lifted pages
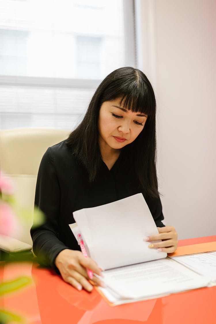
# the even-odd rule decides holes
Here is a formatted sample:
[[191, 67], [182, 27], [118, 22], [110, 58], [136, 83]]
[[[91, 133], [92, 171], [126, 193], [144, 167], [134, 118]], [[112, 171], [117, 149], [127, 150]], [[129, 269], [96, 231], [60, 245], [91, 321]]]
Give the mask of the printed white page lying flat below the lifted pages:
[[104, 271], [103, 281], [108, 289], [102, 291], [112, 302], [168, 295], [209, 283], [208, 278], [169, 258]]

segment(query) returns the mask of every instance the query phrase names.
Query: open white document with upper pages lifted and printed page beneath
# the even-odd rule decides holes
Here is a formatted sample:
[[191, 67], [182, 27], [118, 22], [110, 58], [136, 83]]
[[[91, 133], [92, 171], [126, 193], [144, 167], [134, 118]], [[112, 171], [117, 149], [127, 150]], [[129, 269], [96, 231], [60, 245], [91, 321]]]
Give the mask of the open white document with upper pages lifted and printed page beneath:
[[100, 291], [113, 304], [155, 298], [210, 284], [210, 278], [149, 249], [144, 237], [158, 233], [143, 198], [136, 194], [73, 213], [88, 255], [103, 268], [107, 288]]

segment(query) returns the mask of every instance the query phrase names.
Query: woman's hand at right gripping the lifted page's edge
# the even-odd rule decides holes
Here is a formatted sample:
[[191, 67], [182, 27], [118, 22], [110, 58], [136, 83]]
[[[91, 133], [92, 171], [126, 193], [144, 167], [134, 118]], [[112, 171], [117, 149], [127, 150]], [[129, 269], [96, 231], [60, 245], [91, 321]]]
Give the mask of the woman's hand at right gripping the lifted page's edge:
[[[157, 227], [159, 234], [143, 238], [148, 241], [149, 248], [158, 249], [166, 253], [172, 253], [177, 249], [177, 232], [173, 226]], [[162, 240], [162, 242], [154, 243], [154, 241]]]

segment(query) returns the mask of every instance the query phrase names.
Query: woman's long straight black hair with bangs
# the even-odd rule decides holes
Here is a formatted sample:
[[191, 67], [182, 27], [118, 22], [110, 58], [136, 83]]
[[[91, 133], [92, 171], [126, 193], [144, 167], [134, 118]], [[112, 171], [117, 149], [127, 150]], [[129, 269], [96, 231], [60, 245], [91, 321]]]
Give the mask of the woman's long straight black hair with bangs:
[[120, 105], [133, 112], [148, 115], [142, 132], [121, 151], [127, 164], [135, 170], [142, 191], [158, 197], [156, 175], [156, 101], [154, 91], [144, 73], [133, 67], [111, 72], [97, 87], [83, 121], [69, 135], [76, 158], [85, 166], [93, 182], [102, 163], [98, 144], [98, 116], [103, 102], [121, 98]]

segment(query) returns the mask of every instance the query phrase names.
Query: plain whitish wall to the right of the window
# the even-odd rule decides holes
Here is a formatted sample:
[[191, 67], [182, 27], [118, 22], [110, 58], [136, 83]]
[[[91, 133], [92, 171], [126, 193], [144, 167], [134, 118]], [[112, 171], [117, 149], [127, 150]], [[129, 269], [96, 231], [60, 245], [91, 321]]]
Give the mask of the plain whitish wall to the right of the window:
[[157, 99], [165, 223], [176, 227], [179, 239], [215, 235], [216, 1], [137, 5], [139, 67]]

